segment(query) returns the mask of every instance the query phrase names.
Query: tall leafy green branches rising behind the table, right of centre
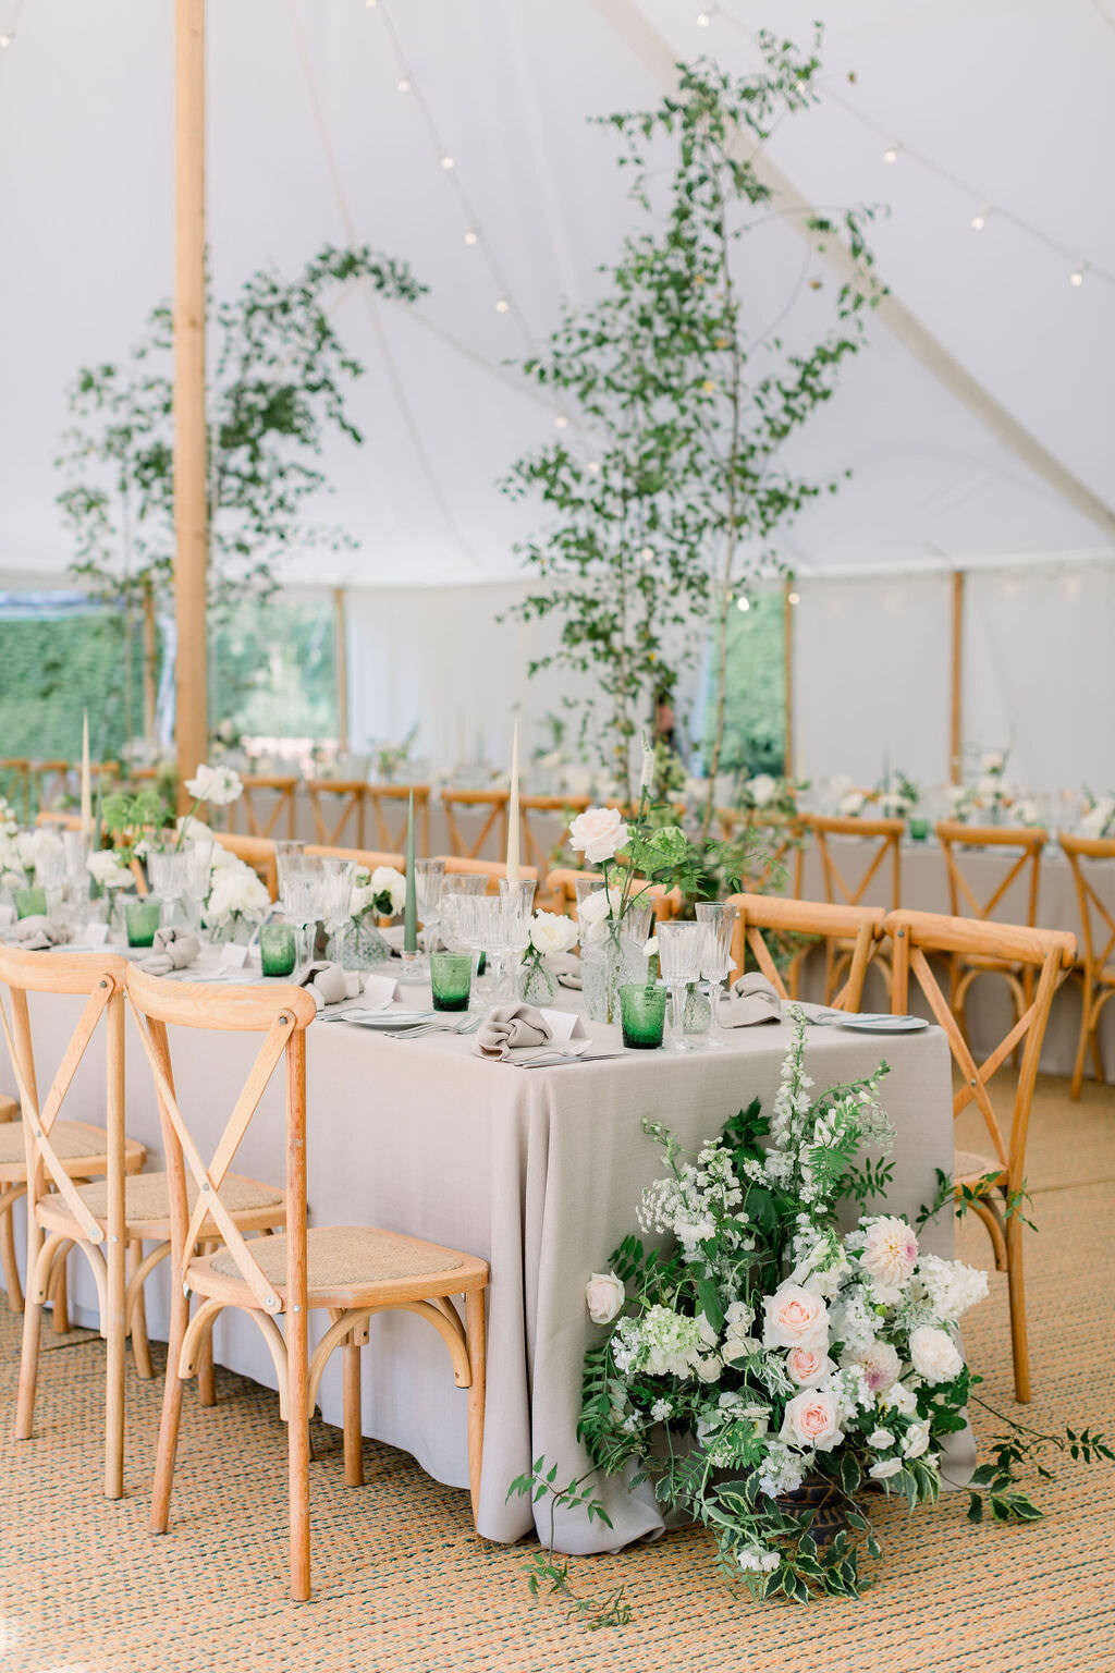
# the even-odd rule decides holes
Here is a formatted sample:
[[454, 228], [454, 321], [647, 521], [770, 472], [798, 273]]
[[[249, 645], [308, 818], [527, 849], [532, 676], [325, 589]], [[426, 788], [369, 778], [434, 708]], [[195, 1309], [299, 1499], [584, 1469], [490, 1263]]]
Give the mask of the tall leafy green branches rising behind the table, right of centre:
[[[834, 323], [819, 328], [814, 298], [801, 341], [789, 340], [797, 294], [822, 289], [806, 269], [777, 321], [761, 315], [761, 286], [741, 271], [739, 246], [781, 211], [754, 154], [814, 102], [821, 60], [817, 43], [804, 55], [766, 32], [757, 40], [754, 75], [705, 60], [682, 65], [677, 92], [657, 109], [605, 119], [625, 142], [620, 166], [634, 174], [630, 196], [647, 226], [602, 269], [602, 299], [567, 308], [547, 351], [525, 363], [572, 418], [505, 482], [552, 514], [522, 547], [537, 584], [520, 614], [560, 622], [557, 647], [532, 673], [560, 663], [592, 676], [592, 696], [567, 703], [582, 708], [582, 738], [593, 726], [608, 738], [625, 800], [635, 733], [712, 632], [705, 835], [724, 748], [729, 611], [747, 581], [779, 567], [776, 534], [838, 489], [838, 478], [796, 473], [782, 455], [863, 346], [878, 299], [869, 212], [816, 214], [806, 221], [809, 259], [829, 239], [843, 239], [853, 258]], [[672, 172], [659, 186], [664, 147]], [[605, 701], [593, 713], [597, 694]]]

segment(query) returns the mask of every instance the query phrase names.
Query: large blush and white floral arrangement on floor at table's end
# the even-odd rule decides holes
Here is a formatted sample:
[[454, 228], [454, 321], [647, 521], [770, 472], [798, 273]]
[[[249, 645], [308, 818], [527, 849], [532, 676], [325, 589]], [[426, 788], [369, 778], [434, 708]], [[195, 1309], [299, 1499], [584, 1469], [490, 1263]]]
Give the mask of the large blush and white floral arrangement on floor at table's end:
[[[886, 1066], [814, 1097], [804, 1039], [797, 1016], [769, 1121], [752, 1103], [694, 1159], [645, 1123], [669, 1173], [639, 1221], [672, 1243], [630, 1236], [593, 1275], [588, 1307], [610, 1328], [587, 1355], [578, 1429], [600, 1471], [634, 1471], [704, 1522], [756, 1596], [799, 1601], [858, 1594], [861, 1548], [879, 1554], [868, 1484], [911, 1509], [938, 1497], [978, 1380], [956, 1325], [986, 1293], [906, 1220], [863, 1211], [889, 1181]], [[859, 1208], [849, 1231], [841, 1203]], [[817, 1489], [846, 1524], [827, 1543]], [[1038, 1514], [1010, 1467], [978, 1472], [983, 1491], [1000, 1519]]]

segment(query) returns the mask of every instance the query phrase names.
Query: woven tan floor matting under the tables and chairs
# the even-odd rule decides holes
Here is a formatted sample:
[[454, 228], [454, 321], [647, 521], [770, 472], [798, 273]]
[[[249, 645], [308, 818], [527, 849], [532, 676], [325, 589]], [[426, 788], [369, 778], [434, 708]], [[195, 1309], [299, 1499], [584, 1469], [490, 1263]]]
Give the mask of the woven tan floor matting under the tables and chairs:
[[[986, 1148], [978, 1134], [968, 1143]], [[1040, 1236], [1028, 1243], [1035, 1402], [1055, 1429], [1115, 1430], [1115, 1092], [1041, 1086], [1031, 1146]], [[961, 1251], [986, 1263], [981, 1228]], [[756, 1606], [731, 1596], [704, 1534], [575, 1564], [624, 1583], [627, 1628], [585, 1633], [523, 1584], [528, 1546], [471, 1534], [463, 1492], [366, 1442], [346, 1489], [339, 1434], [314, 1424], [314, 1601], [284, 1596], [286, 1445], [274, 1394], [221, 1372], [219, 1405], [186, 1400], [172, 1529], [145, 1531], [159, 1382], [129, 1367], [130, 1497], [100, 1494], [102, 1355], [45, 1332], [37, 1439], [15, 1444], [18, 1320], [0, 1313], [0, 1668], [3, 1673], [1105, 1673], [1115, 1666], [1115, 1471], [1067, 1466], [1048, 1519], [965, 1521], [950, 1497], [886, 1506], [886, 1563], [861, 1603]], [[1005, 1280], [970, 1315], [986, 1394], [1010, 1407]], [[155, 1350], [159, 1355], [159, 1350]]]

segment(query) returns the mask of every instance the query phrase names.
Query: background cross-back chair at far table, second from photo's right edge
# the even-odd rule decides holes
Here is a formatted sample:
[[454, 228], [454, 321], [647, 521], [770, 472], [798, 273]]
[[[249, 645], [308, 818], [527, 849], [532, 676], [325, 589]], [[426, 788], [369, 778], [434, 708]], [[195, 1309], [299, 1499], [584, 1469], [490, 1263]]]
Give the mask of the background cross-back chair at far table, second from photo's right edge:
[[[956, 918], [975, 918], [980, 923], [995, 922], [995, 908], [1005, 900], [1011, 885], [1020, 880], [1026, 890], [1026, 915], [1015, 915], [1010, 922], [1025, 922], [1033, 929], [1038, 917], [1038, 885], [1041, 882], [1041, 850], [1050, 840], [1046, 830], [1020, 825], [961, 825], [958, 820], [941, 820], [936, 826], [936, 840], [944, 855], [948, 872], [948, 902]], [[1018, 850], [1018, 858], [1006, 868], [991, 893], [976, 895], [968, 877], [965, 877], [961, 852], [968, 850]], [[955, 954], [950, 960], [950, 1004], [960, 1029], [965, 1027], [965, 999], [968, 989], [980, 975], [1000, 975], [1011, 994], [1015, 1017], [1020, 1017], [1033, 995], [1033, 967], [1015, 964], [1008, 959], [996, 959], [985, 954]]]

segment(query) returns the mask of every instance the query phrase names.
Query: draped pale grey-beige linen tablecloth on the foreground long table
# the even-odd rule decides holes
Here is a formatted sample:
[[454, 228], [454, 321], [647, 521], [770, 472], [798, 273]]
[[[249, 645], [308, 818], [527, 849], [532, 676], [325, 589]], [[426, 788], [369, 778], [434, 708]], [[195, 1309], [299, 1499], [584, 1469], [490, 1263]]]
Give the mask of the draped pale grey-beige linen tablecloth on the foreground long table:
[[[40, 1087], [57, 1067], [77, 1002], [32, 995]], [[617, 1031], [588, 1026], [617, 1046]], [[341, 1022], [314, 1022], [308, 1039], [311, 1223], [349, 1221], [408, 1231], [491, 1263], [488, 1405], [480, 1532], [513, 1541], [532, 1529], [525, 1499], [507, 1502], [512, 1479], [545, 1454], [558, 1479], [587, 1469], [575, 1440], [585, 1348], [600, 1338], [585, 1310], [585, 1282], [637, 1230], [635, 1205], [662, 1171], [642, 1131], [650, 1116], [687, 1148], [715, 1134], [754, 1096], [769, 1109], [791, 1031], [786, 1024], [736, 1031], [724, 1051], [690, 1056], [630, 1052], [598, 1064], [517, 1069], [485, 1062], [470, 1037], [391, 1041]], [[87, 1054], [64, 1114], [104, 1119], [104, 1041]], [[179, 1101], [212, 1153], [254, 1054], [251, 1037], [172, 1031]], [[806, 1069], [817, 1089], [893, 1066], [883, 1101], [896, 1128], [888, 1206], [913, 1215], [951, 1171], [950, 1056], [938, 1029], [878, 1037], [814, 1027]], [[236, 1169], [283, 1183], [281, 1072], [267, 1089], [236, 1158]], [[0, 1086], [15, 1091], [7, 1056]], [[129, 1022], [127, 1131], [162, 1166], [154, 1086]], [[938, 1216], [923, 1243], [951, 1253], [951, 1216]], [[72, 1258], [79, 1317], [94, 1322], [94, 1292]], [[152, 1335], [165, 1338], [169, 1273], [149, 1283]], [[324, 1315], [314, 1315], [318, 1333]], [[274, 1385], [271, 1357], [254, 1323], [226, 1312], [214, 1333], [217, 1362]], [[341, 1422], [341, 1362], [321, 1384], [323, 1415]], [[371, 1322], [364, 1353], [364, 1434], [401, 1447], [438, 1481], [466, 1487], [466, 1397], [453, 1384], [441, 1338], [406, 1313]], [[276, 1412], [277, 1424], [277, 1412]], [[279, 1437], [276, 1434], [276, 1444]], [[184, 1461], [189, 1469], [189, 1461]], [[649, 1489], [607, 1481], [600, 1499], [614, 1531], [582, 1516], [558, 1522], [570, 1553], [617, 1549], [654, 1534], [662, 1516]], [[538, 1507], [540, 1524], [545, 1507]], [[368, 1514], [374, 1516], [374, 1496]], [[547, 1512], [548, 1514], [548, 1512]], [[540, 1531], [545, 1529], [540, 1526]]]

